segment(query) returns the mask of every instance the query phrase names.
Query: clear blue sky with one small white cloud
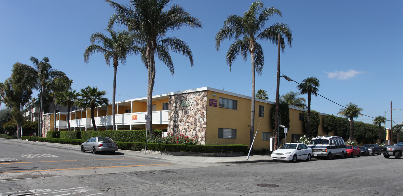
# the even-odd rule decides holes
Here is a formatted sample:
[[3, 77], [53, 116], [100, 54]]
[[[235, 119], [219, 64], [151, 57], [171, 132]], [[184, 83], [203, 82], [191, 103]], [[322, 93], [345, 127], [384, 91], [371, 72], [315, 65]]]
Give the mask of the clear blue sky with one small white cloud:
[[[129, 0], [116, 2], [129, 4]], [[247, 62], [238, 58], [230, 72], [225, 55], [234, 40], [224, 41], [217, 52], [214, 39], [228, 15], [242, 15], [252, 2], [173, 0], [172, 4], [183, 6], [204, 26], [168, 33], [168, 37], [177, 36], [188, 43], [194, 66], [183, 56], [171, 53], [175, 67], [175, 75], [171, 76], [168, 68], [157, 61], [154, 95], [212, 87], [251, 96], [250, 58]], [[281, 54], [283, 74], [299, 83], [315, 76], [320, 81], [320, 95], [340, 105], [353, 102], [367, 116], [383, 116], [391, 108], [391, 101], [393, 109], [403, 108], [403, 93], [399, 90], [403, 83], [403, 1], [265, 0], [264, 5], [274, 6], [283, 14], [272, 17], [266, 26], [282, 22], [292, 29], [292, 47]], [[112, 13], [114, 10], [102, 0], [0, 1], [0, 80], [10, 77], [15, 62], [32, 66], [31, 56], [39, 60], [47, 56], [53, 68], [74, 80], [73, 89], [97, 86], [112, 100], [112, 66], [106, 66], [102, 55], [91, 56], [88, 64], [83, 59], [91, 34], [100, 31], [107, 35], [103, 29]], [[266, 90], [273, 101], [277, 47], [260, 43], [265, 61], [262, 75], [256, 76], [256, 91]], [[120, 64], [117, 76], [117, 101], [147, 96], [147, 71], [138, 56], [127, 58], [124, 66]], [[280, 95], [297, 91], [296, 86], [281, 78]], [[340, 108], [322, 97], [312, 98], [316, 111], [336, 115]], [[358, 120], [372, 123], [367, 116]], [[390, 120], [390, 112], [386, 118]], [[393, 110], [393, 121], [403, 121], [403, 110]]]

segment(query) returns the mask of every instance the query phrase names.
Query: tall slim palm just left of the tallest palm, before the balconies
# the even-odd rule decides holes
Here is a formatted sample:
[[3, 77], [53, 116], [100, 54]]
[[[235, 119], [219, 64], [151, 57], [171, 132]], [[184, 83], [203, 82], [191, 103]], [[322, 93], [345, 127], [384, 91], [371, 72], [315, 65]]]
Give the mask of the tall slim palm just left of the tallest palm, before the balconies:
[[[122, 65], [125, 65], [126, 57], [131, 54], [138, 54], [141, 52], [141, 47], [135, 44], [136, 35], [128, 31], [118, 31], [113, 29], [106, 29], [111, 38], [106, 35], [96, 32], [91, 35], [91, 45], [85, 48], [84, 61], [88, 63], [91, 54], [104, 54], [106, 65], [110, 66], [110, 59], [113, 64], [113, 90], [112, 90], [112, 124], [113, 130], [116, 130], [115, 124], [115, 97], [116, 97], [116, 71], [118, 68], [119, 60]], [[102, 42], [103, 46], [96, 45], [94, 42]]]

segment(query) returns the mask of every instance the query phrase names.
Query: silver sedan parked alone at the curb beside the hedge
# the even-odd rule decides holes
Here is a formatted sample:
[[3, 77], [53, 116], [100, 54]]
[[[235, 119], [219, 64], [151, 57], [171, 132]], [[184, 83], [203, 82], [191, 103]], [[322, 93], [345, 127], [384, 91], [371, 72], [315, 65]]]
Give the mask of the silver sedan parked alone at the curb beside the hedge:
[[93, 154], [98, 152], [110, 152], [112, 155], [118, 151], [118, 144], [111, 138], [92, 137], [81, 144], [81, 152], [92, 151]]

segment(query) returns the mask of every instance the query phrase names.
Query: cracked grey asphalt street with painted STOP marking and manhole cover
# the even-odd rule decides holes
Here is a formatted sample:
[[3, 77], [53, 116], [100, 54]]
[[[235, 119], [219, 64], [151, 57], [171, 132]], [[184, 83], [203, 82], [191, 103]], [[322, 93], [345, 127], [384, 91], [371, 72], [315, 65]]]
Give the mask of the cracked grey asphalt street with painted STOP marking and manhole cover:
[[[2, 178], [0, 196], [322, 196], [323, 194], [326, 196], [394, 196], [402, 195], [403, 191], [401, 186], [403, 160], [385, 159], [378, 155], [332, 160], [312, 159], [312, 161], [304, 160], [297, 163], [279, 161], [277, 163], [202, 164], [174, 161], [175, 159], [172, 159], [173, 161], [152, 159], [151, 156], [93, 155], [74, 149], [1, 141], [0, 158], [4, 155], [18, 154], [23, 160], [13, 161], [12, 164], [0, 163], [0, 178], [5, 174], [3, 172], [16, 174], [16, 179]], [[26, 155], [40, 157], [21, 157]], [[81, 167], [88, 168], [77, 169]], [[55, 170], [37, 172], [33, 171], [35, 169]], [[62, 169], [68, 169], [69, 172]], [[26, 174], [25, 176], [17, 175], [21, 173]]]

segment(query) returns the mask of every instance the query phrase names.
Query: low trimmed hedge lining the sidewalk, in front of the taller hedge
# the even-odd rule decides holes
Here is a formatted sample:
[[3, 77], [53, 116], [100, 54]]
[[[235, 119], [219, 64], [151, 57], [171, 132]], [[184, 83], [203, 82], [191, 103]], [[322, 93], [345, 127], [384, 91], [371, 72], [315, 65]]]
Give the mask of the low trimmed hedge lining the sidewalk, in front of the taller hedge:
[[[59, 139], [40, 137], [21, 137], [23, 140], [52, 142], [60, 144], [81, 145], [85, 140], [79, 139]], [[141, 151], [145, 149], [144, 142], [116, 142], [118, 149]], [[154, 144], [147, 143], [147, 149], [152, 151], [189, 152], [189, 153], [247, 153], [248, 146], [243, 144], [229, 145], [184, 145], [184, 144]]]

